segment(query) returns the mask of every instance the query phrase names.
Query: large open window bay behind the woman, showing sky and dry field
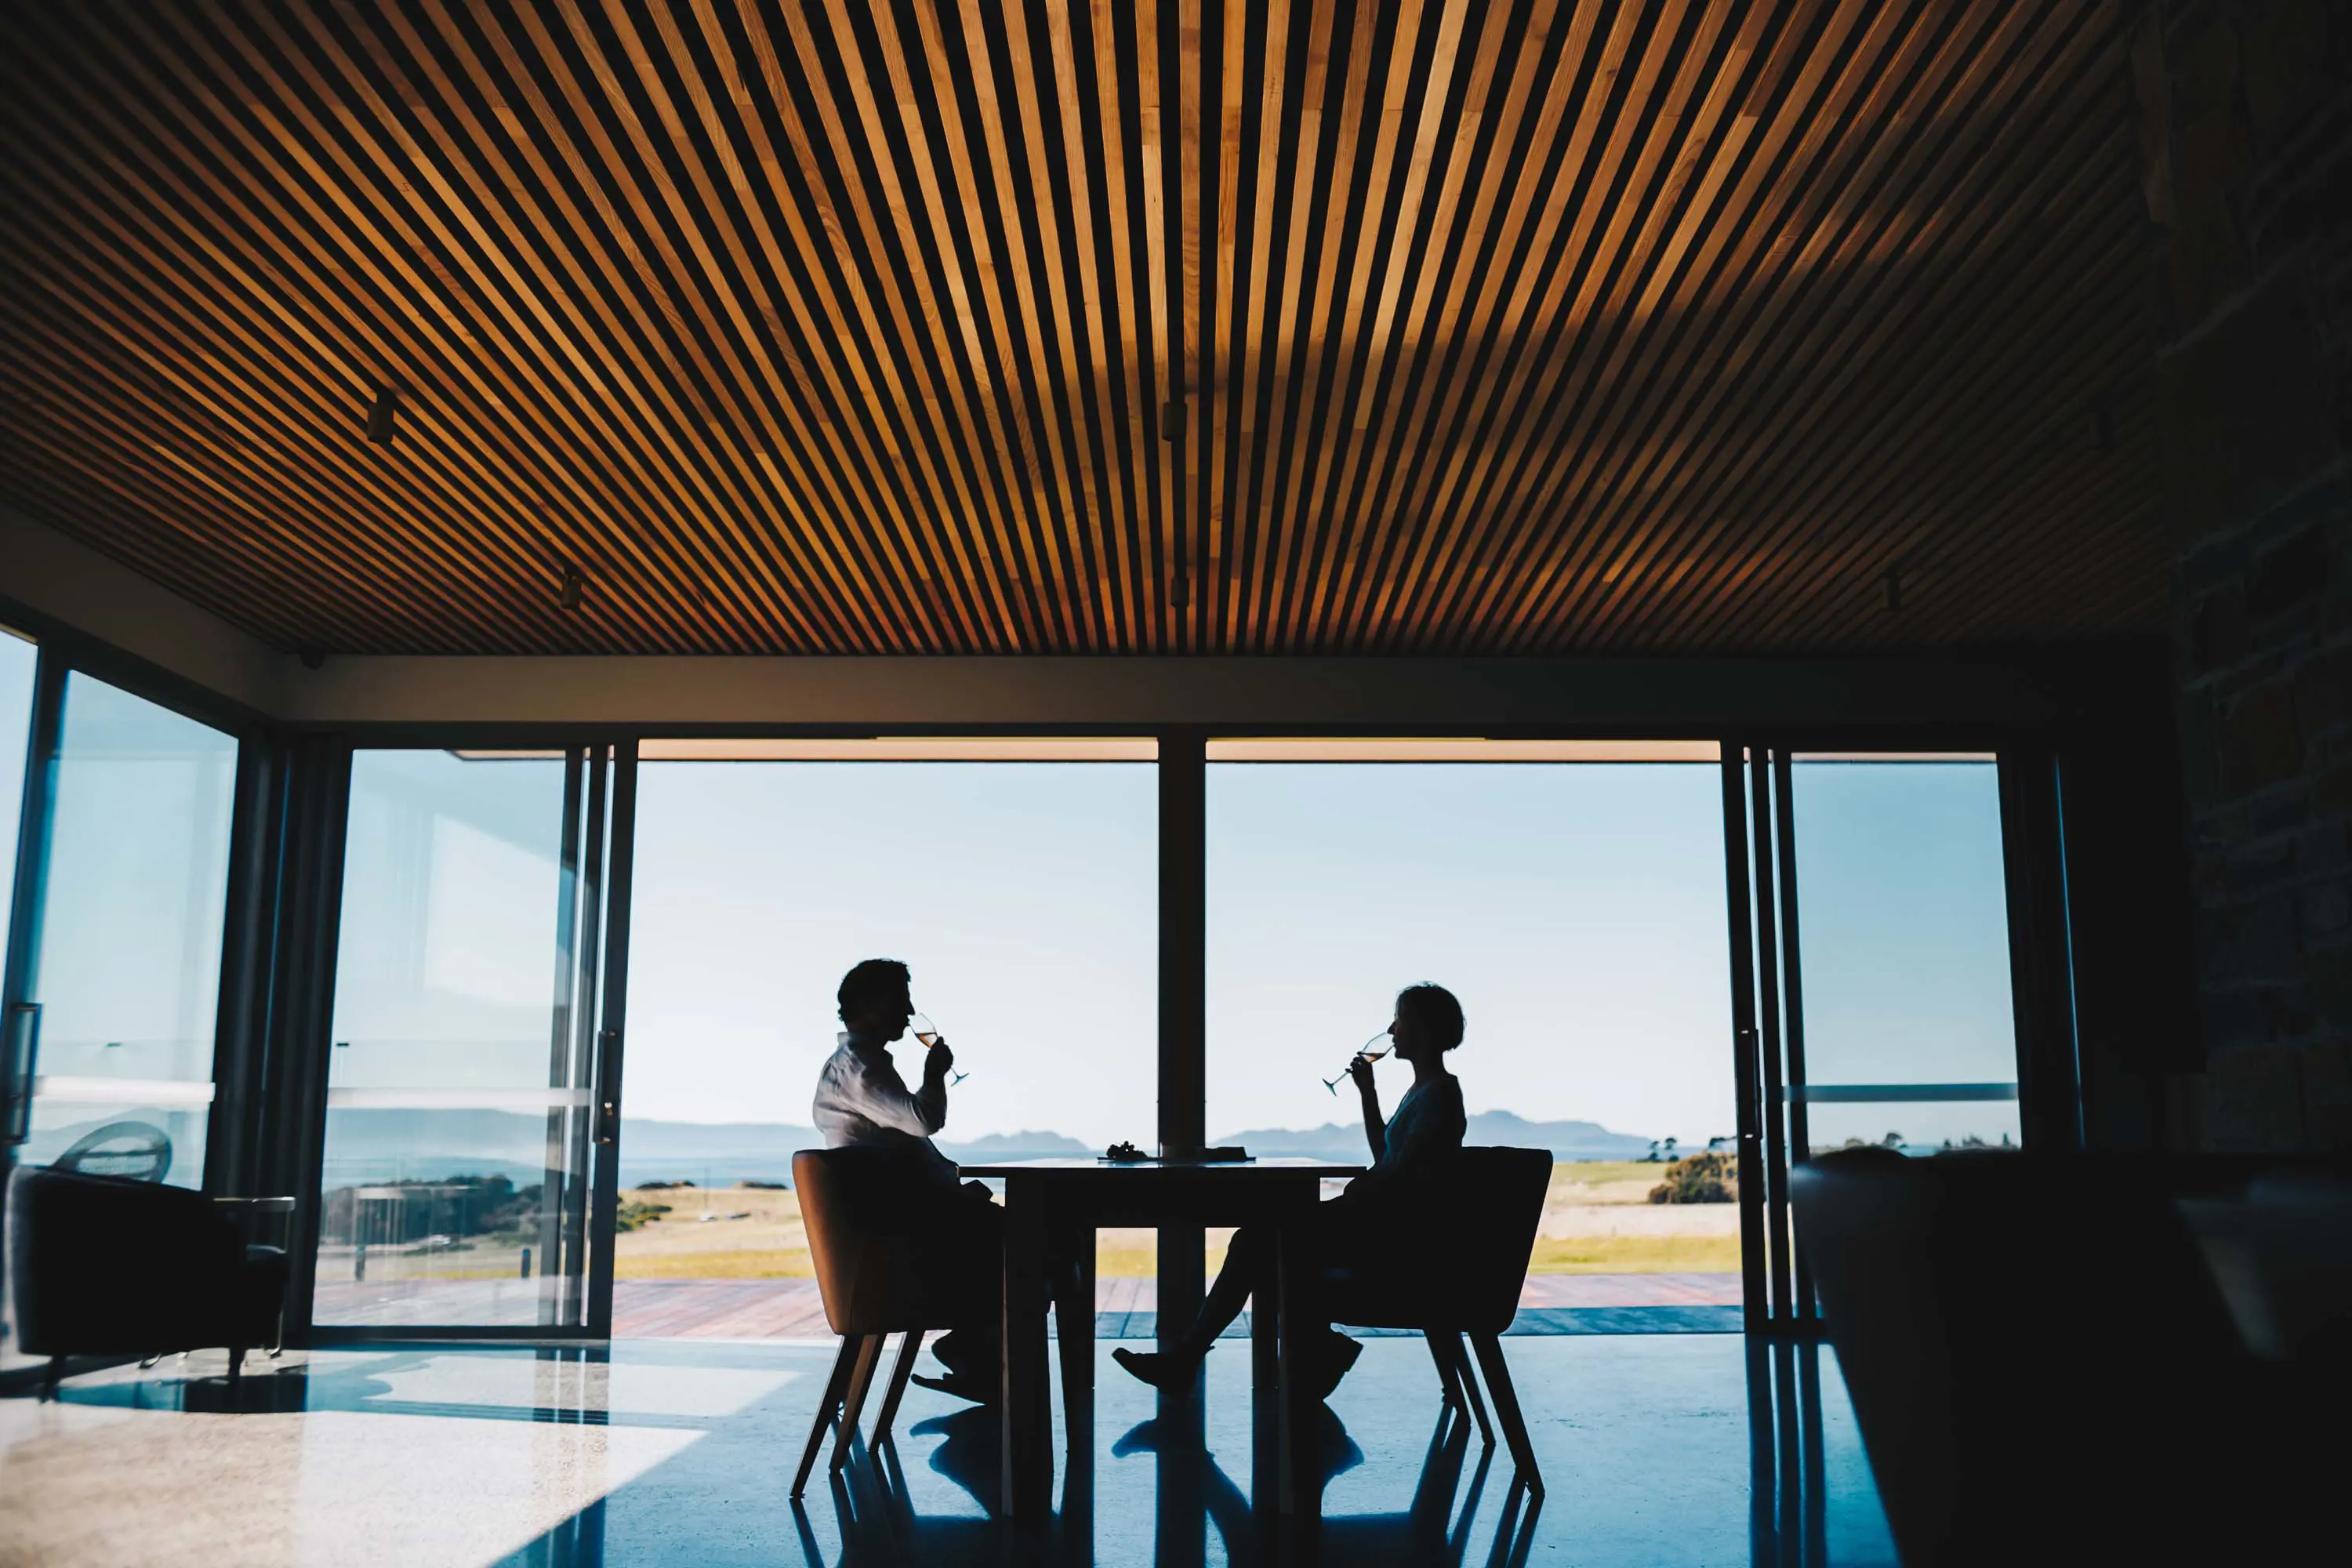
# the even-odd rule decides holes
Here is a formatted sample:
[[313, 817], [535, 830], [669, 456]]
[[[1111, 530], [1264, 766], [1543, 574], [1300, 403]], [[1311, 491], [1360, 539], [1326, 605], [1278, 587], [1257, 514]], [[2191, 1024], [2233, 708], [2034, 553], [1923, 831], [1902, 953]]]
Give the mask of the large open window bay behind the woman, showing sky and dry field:
[[1712, 743], [1214, 741], [1207, 835], [1211, 1140], [1367, 1159], [1327, 1079], [1435, 980], [1470, 1143], [1557, 1161], [1526, 1307], [1738, 1305]]

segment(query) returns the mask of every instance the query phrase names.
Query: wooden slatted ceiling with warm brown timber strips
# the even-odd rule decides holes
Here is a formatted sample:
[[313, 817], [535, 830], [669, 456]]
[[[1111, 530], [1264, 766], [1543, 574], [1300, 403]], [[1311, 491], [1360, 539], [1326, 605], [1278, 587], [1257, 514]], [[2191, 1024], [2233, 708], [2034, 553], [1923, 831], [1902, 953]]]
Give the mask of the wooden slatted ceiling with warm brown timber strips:
[[2112, 0], [0, 26], [0, 498], [285, 649], [2159, 614]]

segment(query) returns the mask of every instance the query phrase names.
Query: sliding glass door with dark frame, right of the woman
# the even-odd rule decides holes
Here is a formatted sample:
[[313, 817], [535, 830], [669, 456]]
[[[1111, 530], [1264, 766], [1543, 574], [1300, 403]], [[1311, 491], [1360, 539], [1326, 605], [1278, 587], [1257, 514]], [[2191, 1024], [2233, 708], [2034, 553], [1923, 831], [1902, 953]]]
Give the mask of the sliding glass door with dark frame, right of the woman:
[[1724, 830], [1762, 1326], [1811, 1316], [1790, 1166], [2025, 1143], [2002, 759], [1729, 750]]

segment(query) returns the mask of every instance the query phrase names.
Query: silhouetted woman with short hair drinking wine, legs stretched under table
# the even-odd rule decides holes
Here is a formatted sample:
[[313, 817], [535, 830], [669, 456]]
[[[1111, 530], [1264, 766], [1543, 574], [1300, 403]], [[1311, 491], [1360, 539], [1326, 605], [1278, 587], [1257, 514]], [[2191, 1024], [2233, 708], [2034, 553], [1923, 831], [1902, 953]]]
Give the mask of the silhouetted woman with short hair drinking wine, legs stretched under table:
[[[1397, 1013], [1388, 1037], [1399, 1063], [1414, 1065], [1414, 1086], [1397, 1100], [1397, 1114], [1381, 1117], [1381, 1091], [1371, 1081], [1371, 1060], [1357, 1056], [1348, 1077], [1364, 1100], [1364, 1140], [1371, 1143], [1371, 1171], [1348, 1182], [1334, 1201], [1315, 1211], [1308, 1251], [1319, 1267], [1362, 1267], [1378, 1255], [1383, 1239], [1411, 1234], [1416, 1208], [1432, 1194], [1432, 1178], [1446, 1157], [1463, 1147], [1468, 1117], [1463, 1086], [1446, 1072], [1446, 1051], [1463, 1044], [1463, 1006], [1444, 985], [1409, 985], [1397, 992]], [[1167, 1352], [1120, 1347], [1112, 1359], [1152, 1387], [1181, 1392], [1216, 1347], [1216, 1335], [1242, 1314], [1242, 1305], [1272, 1284], [1275, 1239], [1244, 1225], [1225, 1246], [1225, 1267], [1216, 1272], [1209, 1298], [1185, 1338]], [[1362, 1345], [1343, 1333], [1324, 1331], [1322, 1352], [1308, 1366], [1317, 1396], [1329, 1396], [1355, 1366]]]

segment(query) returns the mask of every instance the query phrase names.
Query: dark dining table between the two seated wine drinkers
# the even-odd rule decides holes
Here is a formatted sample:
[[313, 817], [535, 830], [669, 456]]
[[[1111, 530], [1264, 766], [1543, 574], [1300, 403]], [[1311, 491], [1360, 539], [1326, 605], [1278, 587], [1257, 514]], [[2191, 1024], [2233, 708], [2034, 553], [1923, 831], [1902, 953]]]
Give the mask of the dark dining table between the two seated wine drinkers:
[[[1054, 1507], [1054, 1394], [1047, 1307], [1049, 1258], [1063, 1269], [1061, 1375], [1068, 1443], [1091, 1443], [1094, 1425], [1094, 1232], [1098, 1227], [1261, 1225], [1275, 1237], [1272, 1302], [1251, 1300], [1251, 1399], [1272, 1401], [1277, 1493], [1284, 1514], [1312, 1519], [1319, 1467], [1310, 1453], [1315, 1392], [1301, 1375], [1315, 1312], [1305, 1227], [1329, 1180], [1364, 1166], [1322, 1159], [1030, 1159], [962, 1166], [964, 1178], [1004, 1185], [1004, 1396], [1002, 1505], [1042, 1523]], [[1167, 1335], [1162, 1335], [1167, 1342]], [[1261, 1420], [1261, 1427], [1268, 1422]]]

